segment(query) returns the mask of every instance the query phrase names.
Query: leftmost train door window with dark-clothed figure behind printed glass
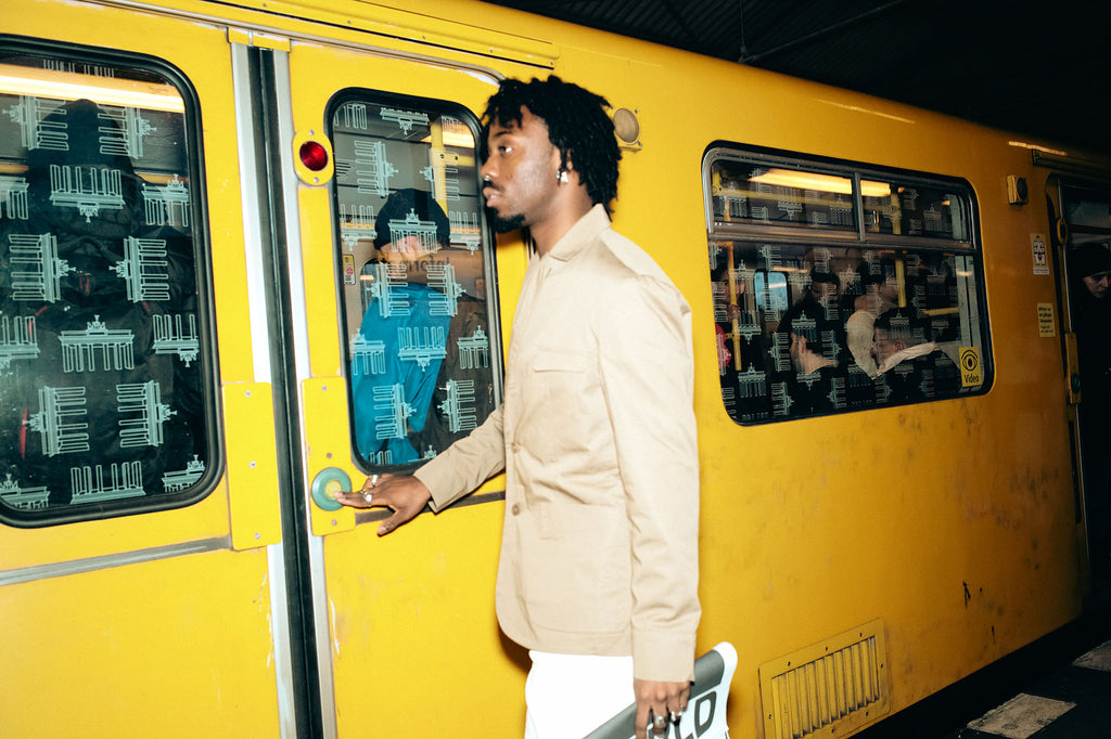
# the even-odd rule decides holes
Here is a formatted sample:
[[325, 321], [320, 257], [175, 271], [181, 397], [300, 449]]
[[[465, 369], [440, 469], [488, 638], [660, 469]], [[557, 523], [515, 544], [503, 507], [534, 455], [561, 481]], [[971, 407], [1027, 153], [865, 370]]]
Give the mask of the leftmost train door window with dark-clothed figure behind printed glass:
[[199, 121], [156, 60], [0, 42], [0, 520], [186, 505], [217, 475]]

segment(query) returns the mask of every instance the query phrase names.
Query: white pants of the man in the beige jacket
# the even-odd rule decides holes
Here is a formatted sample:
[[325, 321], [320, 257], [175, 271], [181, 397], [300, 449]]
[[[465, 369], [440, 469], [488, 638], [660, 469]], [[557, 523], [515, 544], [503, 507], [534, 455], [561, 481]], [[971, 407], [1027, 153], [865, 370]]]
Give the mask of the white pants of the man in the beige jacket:
[[582, 739], [635, 700], [632, 657], [529, 652], [524, 739]]

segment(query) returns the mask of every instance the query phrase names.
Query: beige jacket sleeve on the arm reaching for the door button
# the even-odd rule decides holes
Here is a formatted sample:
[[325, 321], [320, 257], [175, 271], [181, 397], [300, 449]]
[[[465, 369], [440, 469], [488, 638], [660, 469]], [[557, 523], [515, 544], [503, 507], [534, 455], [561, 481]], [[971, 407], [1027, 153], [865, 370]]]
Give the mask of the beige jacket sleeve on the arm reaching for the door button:
[[502, 406], [494, 408], [481, 426], [414, 473], [432, 494], [432, 510], [439, 513], [506, 468], [501, 412]]

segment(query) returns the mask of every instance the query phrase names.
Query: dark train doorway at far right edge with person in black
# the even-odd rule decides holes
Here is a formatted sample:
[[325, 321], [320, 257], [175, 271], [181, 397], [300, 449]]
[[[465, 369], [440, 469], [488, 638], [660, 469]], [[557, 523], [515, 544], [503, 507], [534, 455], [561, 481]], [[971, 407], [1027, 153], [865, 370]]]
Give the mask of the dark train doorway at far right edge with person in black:
[[1054, 181], [1078, 494], [1093, 584], [1111, 581], [1111, 186]]

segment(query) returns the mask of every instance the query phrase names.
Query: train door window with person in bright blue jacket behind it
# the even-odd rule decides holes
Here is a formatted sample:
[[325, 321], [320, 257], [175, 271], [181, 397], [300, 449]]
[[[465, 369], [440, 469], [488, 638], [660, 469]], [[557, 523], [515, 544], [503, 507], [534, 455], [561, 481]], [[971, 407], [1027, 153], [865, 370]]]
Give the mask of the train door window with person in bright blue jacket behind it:
[[493, 246], [466, 110], [349, 90], [330, 107], [352, 448], [412, 468], [500, 394]]

